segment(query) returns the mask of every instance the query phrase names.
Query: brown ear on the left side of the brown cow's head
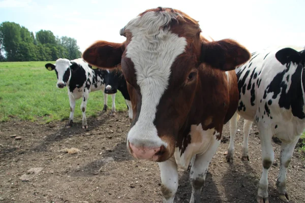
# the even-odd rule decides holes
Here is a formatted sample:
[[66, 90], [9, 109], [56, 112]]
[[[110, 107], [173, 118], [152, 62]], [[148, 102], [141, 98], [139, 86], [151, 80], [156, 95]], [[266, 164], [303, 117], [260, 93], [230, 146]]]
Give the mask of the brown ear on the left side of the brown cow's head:
[[120, 64], [125, 43], [97, 41], [89, 46], [82, 54], [82, 58], [90, 65], [111, 69]]

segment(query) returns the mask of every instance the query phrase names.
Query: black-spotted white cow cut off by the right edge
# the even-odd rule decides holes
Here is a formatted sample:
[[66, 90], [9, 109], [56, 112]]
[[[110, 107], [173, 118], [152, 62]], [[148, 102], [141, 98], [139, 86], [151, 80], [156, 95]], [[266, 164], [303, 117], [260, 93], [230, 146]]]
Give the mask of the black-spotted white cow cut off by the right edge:
[[[248, 136], [254, 122], [262, 146], [262, 176], [257, 201], [268, 201], [268, 170], [275, 159], [271, 138], [281, 141], [280, 172], [277, 179], [279, 197], [288, 202], [286, 172], [294, 147], [305, 128], [305, 50], [265, 49], [235, 71], [238, 78], [237, 113], [245, 118], [242, 157], [249, 160]], [[237, 114], [230, 120], [228, 162], [233, 160]]]

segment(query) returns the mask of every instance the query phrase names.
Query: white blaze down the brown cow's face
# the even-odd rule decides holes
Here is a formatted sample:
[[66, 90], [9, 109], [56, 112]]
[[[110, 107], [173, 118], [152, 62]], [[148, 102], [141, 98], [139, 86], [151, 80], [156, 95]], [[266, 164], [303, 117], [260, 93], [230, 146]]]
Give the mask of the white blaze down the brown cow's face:
[[[178, 55], [185, 51], [186, 38], [178, 37], [168, 25], [179, 14], [167, 12], [147, 12], [130, 21], [125, 29], [132, 34], [127, 46], [126, 57], [134, 64], [137, 84], [142, 94], [142, 106], [138, 121], [131, 128], [128, 138], [134, 145], [136, 139], [154, 138], [156, 145], [167, 146], [158, 137], [154, 126], [157, 106], [168, 87], [171, 65]], [[147, 147], [149, 144], [147, 143]]]

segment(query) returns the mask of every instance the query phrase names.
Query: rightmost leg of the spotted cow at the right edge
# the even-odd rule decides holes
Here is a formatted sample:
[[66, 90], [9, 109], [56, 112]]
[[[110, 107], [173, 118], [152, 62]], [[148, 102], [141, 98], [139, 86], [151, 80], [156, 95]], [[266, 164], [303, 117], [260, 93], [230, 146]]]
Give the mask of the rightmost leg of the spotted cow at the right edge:
[[286, 144], [282, 142], [280, 155], [280, 173], [277, 180], [277, 187], [280, 194], [280, 199], [289, 201], [289, 195], [286, 188], [286, 173], [290, 163], [293, 150], [300, 136], [298, 136], [292, 143]]

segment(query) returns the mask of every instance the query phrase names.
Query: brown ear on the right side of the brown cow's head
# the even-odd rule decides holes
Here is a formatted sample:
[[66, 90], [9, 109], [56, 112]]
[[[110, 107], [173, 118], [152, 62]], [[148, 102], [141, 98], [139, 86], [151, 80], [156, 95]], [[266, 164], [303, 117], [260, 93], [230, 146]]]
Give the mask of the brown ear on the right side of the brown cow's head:
[[234, 70], [250, 57], [251, 54], [245, 47], [230, 39], [203, 42], [201, 45], [200, 62], [223, 71]]

